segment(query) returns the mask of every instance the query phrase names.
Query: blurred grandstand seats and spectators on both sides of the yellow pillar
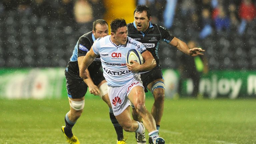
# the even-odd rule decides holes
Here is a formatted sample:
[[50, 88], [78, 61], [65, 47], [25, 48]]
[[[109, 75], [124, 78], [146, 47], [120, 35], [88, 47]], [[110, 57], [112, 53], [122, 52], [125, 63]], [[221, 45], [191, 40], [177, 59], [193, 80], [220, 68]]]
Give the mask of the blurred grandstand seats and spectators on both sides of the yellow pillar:
[[[256, 69], [255, 1], [136, 3], [151, 8], [153, 23], [205, 49], [210, 69]], [[105, 13], [102, 0], [0, 1], [0, 67], [65, 67], [78, 38]], [[181, 53], [164, 42], [159, 49], [163, 68], [178, 68]]]

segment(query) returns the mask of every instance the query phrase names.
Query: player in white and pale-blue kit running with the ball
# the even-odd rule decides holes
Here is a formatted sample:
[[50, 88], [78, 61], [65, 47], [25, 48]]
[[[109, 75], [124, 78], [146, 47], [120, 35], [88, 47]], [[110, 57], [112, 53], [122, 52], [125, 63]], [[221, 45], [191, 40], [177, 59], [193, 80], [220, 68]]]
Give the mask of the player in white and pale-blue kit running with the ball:
[[[153, 144], [164, 144], [164, 139], [159, 137], [153, 116], [145, 107], [145, 92], [140, 74], [133, 72], [154, 68], [155, 59], [141, 42], [127, 36], [128, 29], [124, 19], [112, 20], [110, 28], [111, 35], [97, 39], [84, 57], [80, 77], [88, 78], [85, 70], [95, 57], [100, 55], [103, 75], [108, 85], [109, 100], [119, 124], [127, 132], [140, 134], [145, 133], [146, 128]], [[133, 60], [131, 60], [133, 64], [126, 63], [126, 54], [130, 49], [136, 49], [142, 54], [145, 60], [142, 65]], [[131, 118], [130, 102], [143, 118], [143, 123]]]

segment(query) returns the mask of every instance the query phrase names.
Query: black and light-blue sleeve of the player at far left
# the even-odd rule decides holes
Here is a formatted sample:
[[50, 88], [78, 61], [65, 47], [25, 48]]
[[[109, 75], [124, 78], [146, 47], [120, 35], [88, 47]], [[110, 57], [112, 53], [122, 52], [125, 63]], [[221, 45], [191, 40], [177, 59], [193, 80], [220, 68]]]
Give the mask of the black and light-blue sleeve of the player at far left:
[[80, 37], [77, 45], [77, 57], [85, 56], [91, 49], [92, 43], [87, 37]]

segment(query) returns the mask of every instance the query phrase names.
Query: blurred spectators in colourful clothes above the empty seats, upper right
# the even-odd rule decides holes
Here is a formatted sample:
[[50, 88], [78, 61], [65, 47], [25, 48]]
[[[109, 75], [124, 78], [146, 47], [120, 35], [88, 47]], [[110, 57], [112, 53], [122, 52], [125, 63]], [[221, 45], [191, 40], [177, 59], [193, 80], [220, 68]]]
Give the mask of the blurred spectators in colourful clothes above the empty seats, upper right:
[[[143, 1], [143, 2], [140, 2]], [[252, 0], [139, 0], [159, 13], [153, 13], [154, 22], [175, 29], [176, 19], [183, 19], [185, 26], [199, 32], [204, 39], [214, 31], [243, 35], [247, 27], [255, 27], [256, 2]], [[155, 5], [156, 4], [156, 5]], [[235, 33], [234, 33], [235, 32]]]

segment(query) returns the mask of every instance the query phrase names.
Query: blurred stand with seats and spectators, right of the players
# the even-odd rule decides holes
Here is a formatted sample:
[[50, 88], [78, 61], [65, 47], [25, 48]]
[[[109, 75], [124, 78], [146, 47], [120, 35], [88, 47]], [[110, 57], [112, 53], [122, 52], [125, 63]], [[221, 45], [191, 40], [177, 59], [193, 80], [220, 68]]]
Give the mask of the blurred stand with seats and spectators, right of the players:
[[[153, 11], [154, 23], [168, 28], [186, 42], [196, 41], [206, 49], [210, 69], [256, 69], [256, 1], [252, 0], [141, 0]], [[140, 0], [138, 1], [140, 2]], [[178, 67], [179, 52], [170, 53], [171, 67]], [[166, 52], [167, 51], [167, 52]], [[171, 54], [172, 55], [172, 54]], [[164, 67], [169, 63], [163, 61]], [[166, 65], [165, 65], [166, 64]]]

